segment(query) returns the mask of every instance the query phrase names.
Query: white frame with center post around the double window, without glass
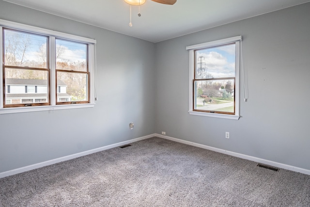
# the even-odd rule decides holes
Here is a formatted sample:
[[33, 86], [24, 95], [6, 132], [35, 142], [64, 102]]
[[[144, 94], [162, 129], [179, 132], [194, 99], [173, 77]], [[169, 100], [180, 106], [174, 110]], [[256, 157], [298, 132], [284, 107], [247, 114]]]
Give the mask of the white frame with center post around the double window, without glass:
[[[50, 94], [51, 94], [51, 104], [48, 106], [31, 106], [31, 107], [12, 107], [12, 108], [3, 108], [3, 37], [2, 37], [2, 28], [11, 28], [20, 31], [33, 32], [37, 34], [47, 35], [49, 36], [49, 61], [52, 65], [50, 68]], [[55, 52], [56, 45], [55, 39], [62, 38], [71, 41], [77, 41], [81, 43], [88, 44], [88, 60], [89, 60], [89, 73], [90, 73], [90, 103], [85, 104], [66, 104], [66, 105], [56, 105], [56, 93], [58, 92], [56, 88], [56, 60], [55, 60]], [[79, 109], [79, 108], [92, 108], [95, 105], [95, 97], [94, 97], [94, 74], [95, 74], [95, 44], [96, 40], [80, 37], [72, 34], [67, 34], [63, 32], [57, 32], [52, 30], [47, 30], [39, 27], [33, 27], [25, 24], [20, 24], [12, 21], [7, 21], [0, 19], [0, 62], [1, 62], [1, 70], [0, 70], [0, 114], [5, 113], [19, 113], [19, 112], [31, 112], [31, 111], [54, 111], [54, 110], [64, 110], [64, 109]], [[53, 65], [54, 64], [54, 65]]]

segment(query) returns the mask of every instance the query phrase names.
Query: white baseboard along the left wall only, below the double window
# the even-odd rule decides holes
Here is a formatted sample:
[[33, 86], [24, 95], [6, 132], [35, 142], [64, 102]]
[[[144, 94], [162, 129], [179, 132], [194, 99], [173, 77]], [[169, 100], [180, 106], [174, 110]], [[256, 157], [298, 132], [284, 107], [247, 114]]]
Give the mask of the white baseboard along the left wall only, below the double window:
[[150, 134], [150, 135], [147, 135], [147, 136], [144, 136], [144, 137], [139, 137], [139, 138], [128, 140], [128, 141], [124, 141], [124, 142], [121, 142], [121, 143], [110, 144], [108, 146], [103, 146], [103, 147], [99, 147], [99, 148], [96, 148], [96, 149], [80, 152], [80, 153], [77, 153], [77, 154], [68, 155], [68, 156], [65, 156], [65, 157], [62, 157], [62, 158], [51, 159], [51, 160], [47, 160], [47, 161], [44, 161], [44, 162], [36, 163], [36, 164], [33, 164], [33, 165], [17, 168], [17, 169], [14, 169], [14, 170], [10, 170], [10, 171], [6, 171], [6, 172], [3, 172], [3, 173], [0, 173], [0, 178], [6, 177], [6, 176], [10, 176], [10, 175], [16, 175], [18, 173], [23, 173], [23, 172], [26, 172], [26, 171], [34, 170], [34, 169], [37, 169], [37, 168], [40, 168], [40, 167], [44, 167], [44, 166], [47, 166], [47, 165], [56, 164], [58, 162], [66, 161], [66, 160], [69, 160], [69, 159], [75, 159], [75, 158], [82, 157], [82, 156], [85, 156], [85, 155], [93, 154], [95, 152], [100, 152], [100, 151], [103, 151], [103, 150], [107, 150], [107, 149], [111, 149], [111, 148], [114, 148], [114, 147], [122, 146], [124, 144], [134, 143], [134, 142], [137, 142], [137, 141], [140, 141], [140, 140], [149, 139], [149, 138], [155, 137], [155, 136], [156, 136], [156, 134]]

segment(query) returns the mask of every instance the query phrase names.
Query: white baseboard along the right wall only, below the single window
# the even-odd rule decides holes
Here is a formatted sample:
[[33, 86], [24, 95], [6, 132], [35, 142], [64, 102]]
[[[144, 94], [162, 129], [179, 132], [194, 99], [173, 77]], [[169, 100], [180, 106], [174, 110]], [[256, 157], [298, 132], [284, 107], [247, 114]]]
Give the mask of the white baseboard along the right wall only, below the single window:
[[216, 147], [211, 147], [211, 146], [207, 146], [207, 145], [203, 145], [203, 144], [199, 144], [199, 143], [193, 143], [193, 142], [189, 142], [189, 141], [185, 141], [185, 140], [180, 140], [180, 139], [177, 139], [177, 138], [173, 138], [173, 137], [169, 137], [169, 136], [165, 136], [165, 135], [161, 135], [161, 134], [155, 134], [155, 136], [163, 138], [163, 139], [171, 140], [171, 141], [174, 141], [174, 142], [178, 142], [178, 143], [184, 143], [184, 144], [200, 147], [200, 148], [203, 148], [203, 149], [208, 149], [208, 150], [219, 152], [219, 153], [222, 153], [222, 154], [231, 155], [233, 157], [242, 158], [242, 159], [248, 159], [248, 160], [251, 160], [251, 161], [254, 161], [254, 162], [259, 162], [259, 163], [262, 163], [262, 164], [271, 165], [271, 166], [279, 167], [279, 168], [286, 169], [286, 170], [291, 170], [291, 171], [294, 171], [294, 172], [297, 172], [297, 173], [303, 173], [303, 174], [306, 174], [306, 175], [310, 175], [310, 170], [307, 170], [307, 169], [303, 169], [303, 168], [299, 168], [299, 167], [294, 167], [294, 166], [291, 166], [291, 165], [282, 164], [282, 163], [270, 161], [270, 160], [267, 160], [267, 159], [256, 158], [256, 157], [252, 157], [252, 156], [248, 156], [248, 155], [244, 155], [244, 154], [240, 154], [240, 153], [236, 153], [236, 152], [231, 152], [231, 151], [227, 151], [227, 150], [224, 150], [224, 149], [219, 149], [219, 148], [216, 148]]

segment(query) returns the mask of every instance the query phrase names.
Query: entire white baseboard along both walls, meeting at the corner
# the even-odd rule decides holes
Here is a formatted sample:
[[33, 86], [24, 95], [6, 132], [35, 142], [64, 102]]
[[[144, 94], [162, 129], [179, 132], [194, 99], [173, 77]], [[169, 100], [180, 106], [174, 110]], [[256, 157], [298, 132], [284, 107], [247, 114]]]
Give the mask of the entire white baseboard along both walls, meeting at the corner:
[[219, 153], [222, 153], [222, 154], [231, 155], [231, 156], [234, 156], [234, 157], [237, 157], [237, 158], [248, 159], [248, 160], [259, 162], [259, 163], [262, 163], [262, 164], [267, 164], [267, 165], [279, 167], [279, 168], [282, 168], [282, 169], [291, 170], [291, 171], [294, 171], [294, 172], [310, 175], [310, 170], [307, 170], [307, 169], [303, 169], [303, 168], [299, 168], [299, 167], [294, 167], [294, 166], [291, 166], [291, 165], [286, 165], [286, 164], [282, 164], [282, 163], [279, 163], [279, 162], [274, 162], [274, 161], [270, 161], [270, 160], [266, 160], [266, 159], [260, 159], [260, 158], [256, 158], [256, 157], [252, 157], [252, 156], [248, 156], [248, 155], [244, 155], [244, 154], [240, 154], [240, 153], [236, 153], [236, 152], [231, 152], [231, 151], [219, 149], [219, 148], [216, 148], [216, 147], [211, 147], [211, 146], [207, 146], [207, 145], [203, 145], [203, 144], [199, 144], [199, 143], [193, 143], [193, 142], [189, 142], [189, 141], [185, 141], [185, 140], [180, 140], [180, 139], [177, 139], [177, 138], [173, 138], [173, 137], [169, 137], [169, 136], [165, 136], [165, 135], [161, 135], [161, 134], [156, 134], [155, 133], [155, 134], [150, 134], [150, 135], [147, 135], [147, 136], [144, 136], [144, 137], [139, 137], [139, 138], [136, 138], [136, 139], [124, 141], [124, 142], [121, 142], [121, 143], [110, 144], [110, 145], [107, 145], [107, 146], [103, 146], [103, 147], [99, 147], [99, 148], [96, 148], [96, 149], [80, 152], [80, 153], [77, 153], [77, 154], [68, 155], [68, 156], [65, 156], [65, 157], [62, 157], [62, 158], [51, 159], [51, 160], [47, 160], [45, 162], [40, 162], [40, 163], [37, 163], [37, 164], [33, 164], [33, 165], [17, 168], [17, 169], [14, 169], [14, 170], [6, 171], [6, 172], [3, 172], [3, 173], [0, 173], [0, 178], [6, 177], [6, 176], [10, 176], [10, 175], [16, 175], [16, 174], [23, 173], [23, 172], [30, 171], [30, 170], [34, 170], [34, 169], [37, 169], [37, 168], [40, 168], [40, 167], [44, 167], [44, 166], [47, 166], [47, 165], [56, 164], [58, 162], [66, 161], [66, 160], [69, 160], [69, 159], [75, 159], [75, 158], [78, 158], [78, 157], [82, 157], [82, 156], [85, 156], [85, 155], [93, 154], [93, 153], [100, 152], [100, 151], [103, 151], [103, 150], [107, 150], [107, 149], [111, 149], [111, 148], [114, 148], [114, 147], [122, 146], [124, 144], [134, 143], [134, 142], [137, 142], [137, 141], [140, 141], [140, 140], [149, 139], [151, 137], [159, 137], [159, 138], [171, 140], [171, 141], [178, 142], [178, 143], [184, 143], [184, 144], [200, 147], [200, 148], [203, 148], [203, 149], [208, 149], [208, 150], [219, 152]]

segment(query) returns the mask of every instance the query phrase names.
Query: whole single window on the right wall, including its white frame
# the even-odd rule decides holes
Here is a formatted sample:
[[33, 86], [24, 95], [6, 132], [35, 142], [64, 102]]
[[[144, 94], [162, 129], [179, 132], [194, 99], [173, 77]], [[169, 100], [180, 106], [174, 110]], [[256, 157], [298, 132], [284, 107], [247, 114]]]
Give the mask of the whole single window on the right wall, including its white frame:
[[186, 47], [189, 50], [189, 113], [239, 119], [241, 36]]

